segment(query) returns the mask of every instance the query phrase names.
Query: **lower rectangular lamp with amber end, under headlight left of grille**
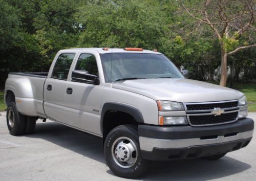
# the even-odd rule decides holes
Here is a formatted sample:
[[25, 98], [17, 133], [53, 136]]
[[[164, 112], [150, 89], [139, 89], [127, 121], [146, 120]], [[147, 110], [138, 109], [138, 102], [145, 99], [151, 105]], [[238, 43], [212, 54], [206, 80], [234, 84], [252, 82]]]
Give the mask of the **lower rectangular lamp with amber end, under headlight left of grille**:
[[159, 125], [185, 125], [187, 118], [185, 116], [159, 116]]

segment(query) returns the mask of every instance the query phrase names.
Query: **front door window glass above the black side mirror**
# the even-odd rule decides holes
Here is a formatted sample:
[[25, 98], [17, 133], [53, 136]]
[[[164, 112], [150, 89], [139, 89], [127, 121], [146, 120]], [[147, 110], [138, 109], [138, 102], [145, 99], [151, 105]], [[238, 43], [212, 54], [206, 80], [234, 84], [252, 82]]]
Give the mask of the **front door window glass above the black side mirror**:
[[95, 56], [91, 54], [81, 54], [77, 60], [75, 70], [98, 76], [98, 67]]

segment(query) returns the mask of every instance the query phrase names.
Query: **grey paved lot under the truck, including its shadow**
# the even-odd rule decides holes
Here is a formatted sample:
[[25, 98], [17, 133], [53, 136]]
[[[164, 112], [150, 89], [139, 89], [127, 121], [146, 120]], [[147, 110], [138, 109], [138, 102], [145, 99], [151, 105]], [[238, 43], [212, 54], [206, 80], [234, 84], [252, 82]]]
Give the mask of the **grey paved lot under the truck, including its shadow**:
[[[105, 165], [101, 139], [51, 121], [38, 121], [34, 134], [13, 137], [1, 114], [1, 180], [124, 180]], [[256, 120], [256, 113], [249, 117]], [[255, 180], [255, 134], [246, 148], [219, 161], [154, 162], [139, 180]]]

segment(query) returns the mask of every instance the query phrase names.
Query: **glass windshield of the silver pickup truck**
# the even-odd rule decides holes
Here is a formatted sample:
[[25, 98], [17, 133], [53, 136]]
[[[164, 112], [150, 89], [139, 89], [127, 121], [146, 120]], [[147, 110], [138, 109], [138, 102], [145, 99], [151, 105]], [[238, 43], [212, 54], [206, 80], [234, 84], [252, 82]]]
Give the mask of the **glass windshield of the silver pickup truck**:
[[164, 55], [105, 53], [100, 56], [105, 82], [131, 79], [184, 78], [177, 67]]

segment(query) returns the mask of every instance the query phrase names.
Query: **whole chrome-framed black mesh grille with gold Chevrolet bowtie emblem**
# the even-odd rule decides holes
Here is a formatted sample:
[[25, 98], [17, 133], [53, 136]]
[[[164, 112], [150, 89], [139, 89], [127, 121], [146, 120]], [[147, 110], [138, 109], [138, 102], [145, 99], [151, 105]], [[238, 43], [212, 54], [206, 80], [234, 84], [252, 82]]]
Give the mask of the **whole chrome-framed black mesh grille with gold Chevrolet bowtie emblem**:
[[[213, 126], [237, 121], [239, 102], [202, 102], [184, 104], [187, 120], [191, 126]], [[220, 111], [220, 114], [218, 113]]]

